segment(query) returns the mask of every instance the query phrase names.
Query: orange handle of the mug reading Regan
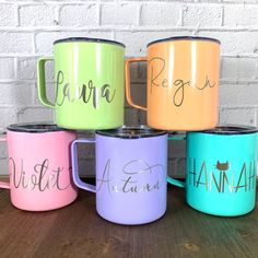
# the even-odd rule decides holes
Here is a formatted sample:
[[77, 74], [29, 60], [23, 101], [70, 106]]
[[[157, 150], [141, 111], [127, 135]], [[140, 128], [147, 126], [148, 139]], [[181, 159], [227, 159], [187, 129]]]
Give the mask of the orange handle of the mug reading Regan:
[[129, 103], [129, 105], [131, 105], [132, 107], [136, 107], [138, 109], [144, 110], [146, 112], [146, 107], [137, 105], [133, 103], [132, 98], [131, 98], [131, 87], [130, 87], [130, 63], [131, 62], [146, 62], [146, 58], [145, 57], [140, 57], [140, 58], [129, 58], [126, 60], [126, 66], [125, 66], [125, 75], [126, 75], [126, 96], [127, 96], [127, 101]]

